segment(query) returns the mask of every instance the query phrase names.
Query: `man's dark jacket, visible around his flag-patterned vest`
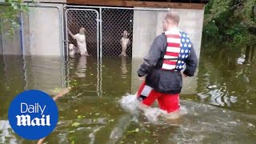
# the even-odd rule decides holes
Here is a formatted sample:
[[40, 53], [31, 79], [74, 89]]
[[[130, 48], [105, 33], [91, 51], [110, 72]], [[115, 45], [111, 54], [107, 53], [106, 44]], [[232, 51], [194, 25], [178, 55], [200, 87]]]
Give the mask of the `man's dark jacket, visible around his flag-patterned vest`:
[[[186, 34], [186, 33], [182, 33]], [[166, 54], [167, 39], [166, 34], [162, 33], [154, 39], [149, 54], [144, 58], [144, 63], [138, 70], [138, 74], [147, 73], [146, 85], [154, 90], [168, 94], [178, 94], [182, 89], [182, 74], [175, 70], [162, 70], [162, 62]], [[184, 74], [193, 76], [197, 68], [198, 58], [193, 46], [190, 53], [184, 58], [186, 70]]]

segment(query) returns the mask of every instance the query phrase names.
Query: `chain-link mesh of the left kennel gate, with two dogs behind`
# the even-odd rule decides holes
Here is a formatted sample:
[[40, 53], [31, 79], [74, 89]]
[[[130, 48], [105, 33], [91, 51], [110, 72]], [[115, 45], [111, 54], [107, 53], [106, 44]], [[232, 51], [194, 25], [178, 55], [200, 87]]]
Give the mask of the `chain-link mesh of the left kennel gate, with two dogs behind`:
[[[88, 54], [97, 57], [98, 50], [98, 12], [96, 10], [66, 10], [66, 24], [67, 28], [72, 34], [78, 34], [81, 27], [86, 29], [86, 48]], [[66, 30], [67, 32], [67, 30]], [[78, 46], [74, 38], [68, 35], [68, 43]]]

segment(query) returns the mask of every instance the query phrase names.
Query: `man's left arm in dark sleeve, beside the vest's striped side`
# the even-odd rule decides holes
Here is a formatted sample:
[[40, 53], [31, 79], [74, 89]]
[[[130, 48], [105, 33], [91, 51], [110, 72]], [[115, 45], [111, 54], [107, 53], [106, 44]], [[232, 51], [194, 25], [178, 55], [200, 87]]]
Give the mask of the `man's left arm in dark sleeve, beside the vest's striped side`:
[[158, 59], [161, 57], [161, 49], [163, 43], [160, 36], [154, 39], [153, 44], [150, 47], [150, 51], [146, 55], [143, 64], [138, 69], [137, 73], [139, 77], [145, 76], [150, 74], [151, 71], [154, 69], [154, 66], [157, 64]]

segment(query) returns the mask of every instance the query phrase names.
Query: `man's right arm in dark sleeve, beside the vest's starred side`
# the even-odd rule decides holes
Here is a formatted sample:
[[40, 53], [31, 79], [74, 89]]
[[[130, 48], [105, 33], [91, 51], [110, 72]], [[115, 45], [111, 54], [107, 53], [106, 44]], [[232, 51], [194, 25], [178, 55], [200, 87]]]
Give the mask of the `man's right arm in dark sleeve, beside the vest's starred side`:
[[194, 47], [191, 46], [191, 51], [189, 56], [186, 58], [186, 70], [183, 74], [186, 74], [189, 77], [194, 76], [195, 70], [198, 67], [198, 57], [195, 54]]

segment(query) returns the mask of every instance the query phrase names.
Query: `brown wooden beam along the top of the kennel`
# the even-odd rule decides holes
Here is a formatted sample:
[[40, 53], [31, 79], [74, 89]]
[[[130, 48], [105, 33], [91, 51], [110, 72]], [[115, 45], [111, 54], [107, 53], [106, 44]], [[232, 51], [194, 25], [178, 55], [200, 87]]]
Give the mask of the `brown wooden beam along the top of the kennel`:
[[120, 6], [120, 7], [151, 7], [203, 10], [204, 4], [179, 2], [138, 2], [138, 1], [106, 1], [106, 0], [66, 0], [68, 4], [90, 6]]

